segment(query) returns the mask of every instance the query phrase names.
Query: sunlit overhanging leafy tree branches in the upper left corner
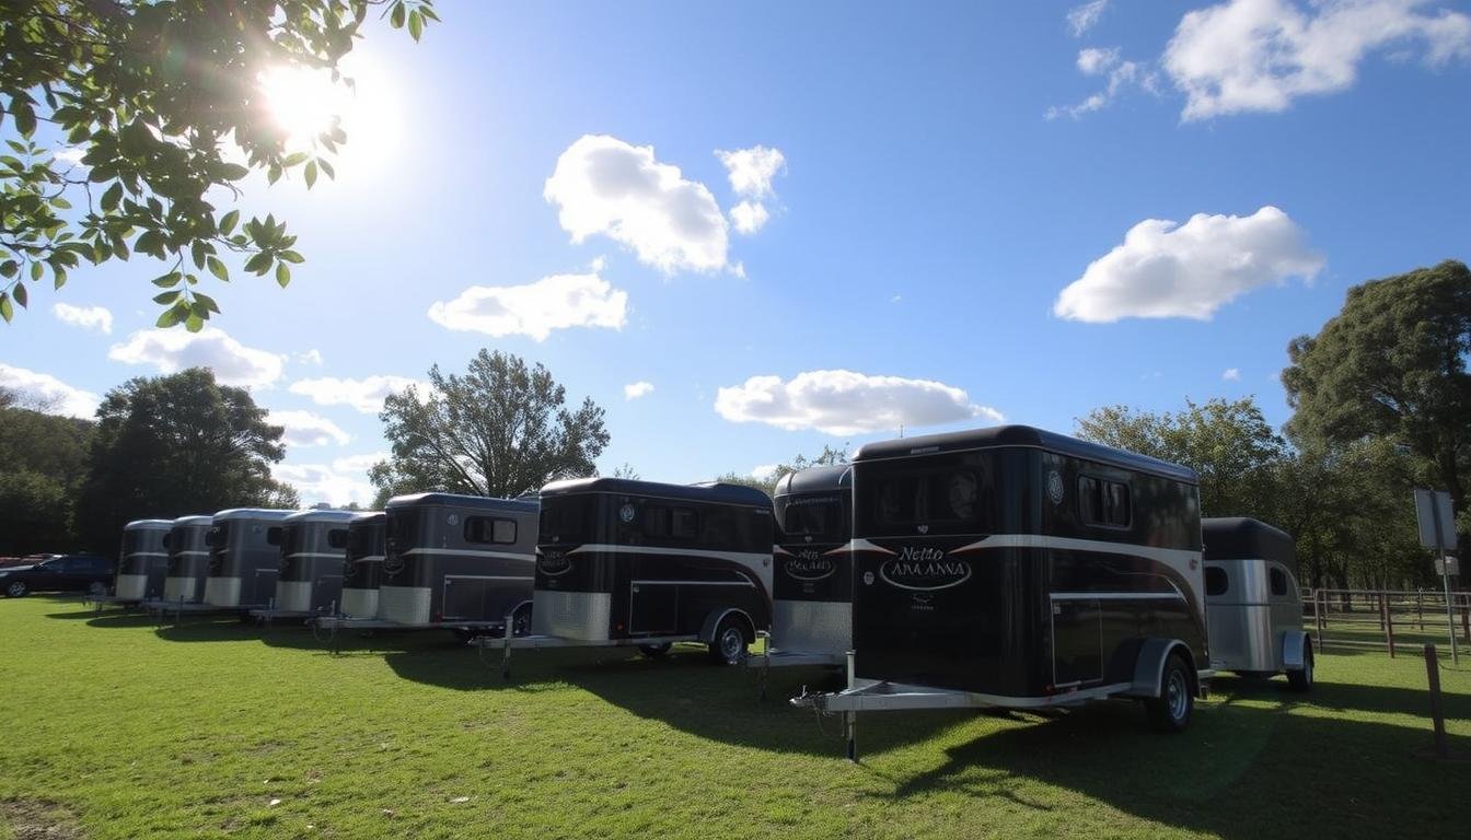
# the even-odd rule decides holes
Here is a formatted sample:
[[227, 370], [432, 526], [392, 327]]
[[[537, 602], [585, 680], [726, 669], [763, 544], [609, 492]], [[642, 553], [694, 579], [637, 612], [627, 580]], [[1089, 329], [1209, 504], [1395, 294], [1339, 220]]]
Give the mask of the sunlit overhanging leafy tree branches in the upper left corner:
[[[197, 331], [215, 302], [202, 272], [221, 256], [291, 280], [296, 237], [275, 216], [240, 224], [219, 196], [262, 171], [332, 177], [347, 140], [337, 121], [293, 149], [271, 119], [263, 74], [338, 62], [374, 6], [415, 40], [432, 0], [26, 0], [0, 4], [0, 316], [26, 306], [26, 282], [60, 288], [81, 260], [166, 260], [153, 280], [159, 327]], [[346, 82], [350, 84], [350, 82]], [[6, 119], [6, 116], [9, 119]], [[44, 127], [44, 128], [43, 128]]]

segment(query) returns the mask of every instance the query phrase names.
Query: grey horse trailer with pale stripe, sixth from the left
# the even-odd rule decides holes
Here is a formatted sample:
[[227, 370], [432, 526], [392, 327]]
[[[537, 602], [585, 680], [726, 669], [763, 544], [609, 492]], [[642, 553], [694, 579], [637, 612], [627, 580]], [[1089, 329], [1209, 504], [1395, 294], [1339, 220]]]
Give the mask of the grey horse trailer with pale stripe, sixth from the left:
[[418, 493], [390, 499], [384, 515], [380, 621], [466, 640], [506, 621], [530, 625], [535, 502]]

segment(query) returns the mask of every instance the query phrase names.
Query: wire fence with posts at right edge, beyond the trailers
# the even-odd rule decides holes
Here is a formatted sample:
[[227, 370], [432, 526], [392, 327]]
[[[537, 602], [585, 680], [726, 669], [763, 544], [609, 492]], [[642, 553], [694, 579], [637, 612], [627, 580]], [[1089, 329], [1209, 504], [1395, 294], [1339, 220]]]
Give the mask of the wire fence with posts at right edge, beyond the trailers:
[[1303, 625], [1324, 652], [1415, 655], [1427, 641], [1471, 655], [1471, 593], [1317, 588], [1303, 591]]

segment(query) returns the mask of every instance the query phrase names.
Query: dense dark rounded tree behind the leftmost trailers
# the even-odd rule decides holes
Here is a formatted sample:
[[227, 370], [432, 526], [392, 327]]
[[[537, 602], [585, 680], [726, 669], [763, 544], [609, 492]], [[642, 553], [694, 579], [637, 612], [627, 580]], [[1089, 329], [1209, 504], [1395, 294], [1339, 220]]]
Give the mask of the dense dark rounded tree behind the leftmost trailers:
[[282, 433], [247, 390], [218, 384], [207, 368], [129, 380], [97, 409], [78, 530], [97, 549], [129, 519], [296, 506], [296, 491], [271, 478]]

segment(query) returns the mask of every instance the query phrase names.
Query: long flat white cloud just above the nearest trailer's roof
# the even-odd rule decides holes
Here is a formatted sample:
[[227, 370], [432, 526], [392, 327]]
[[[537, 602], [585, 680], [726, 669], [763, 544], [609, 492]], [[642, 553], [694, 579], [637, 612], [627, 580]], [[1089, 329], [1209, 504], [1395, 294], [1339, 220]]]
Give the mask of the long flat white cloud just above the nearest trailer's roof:
[[930, 380], [869, 377], [853, 371], [806, 371], [790, 381], [752, 377], [721, 388], [715, 410], [734, 422], [827, 434], [927, 427], [965, 419], [1000, 422], [996, 409], [971, 403], [961, 388]]

